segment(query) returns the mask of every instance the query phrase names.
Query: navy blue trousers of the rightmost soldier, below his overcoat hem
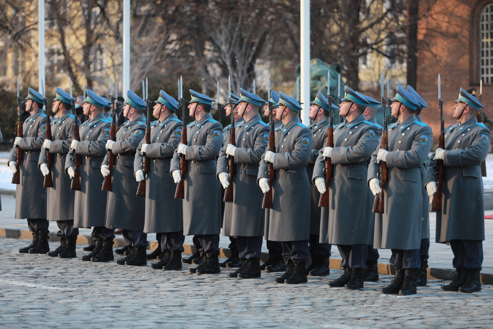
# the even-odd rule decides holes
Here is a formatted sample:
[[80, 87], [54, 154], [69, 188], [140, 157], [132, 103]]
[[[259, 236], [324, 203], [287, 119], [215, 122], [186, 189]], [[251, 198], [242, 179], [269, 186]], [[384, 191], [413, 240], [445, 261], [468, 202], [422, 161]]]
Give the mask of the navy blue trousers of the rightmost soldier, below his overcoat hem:
[[450, 240], [450, 248], [454, 253], [454, 268], [481, 268], [483, 265], [483, 241], [481, 240]]

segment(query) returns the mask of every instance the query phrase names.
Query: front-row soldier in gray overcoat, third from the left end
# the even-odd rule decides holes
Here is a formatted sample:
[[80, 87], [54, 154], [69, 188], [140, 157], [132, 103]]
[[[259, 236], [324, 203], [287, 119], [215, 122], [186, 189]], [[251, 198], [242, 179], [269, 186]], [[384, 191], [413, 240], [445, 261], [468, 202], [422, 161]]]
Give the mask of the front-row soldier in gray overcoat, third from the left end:
[[[111, 255], [113, 254], [114, 230], [105, 226], [108, 192], [101, 189], [104, 181], [101, 165], [107, 152], [105, 145], [109, 139], [111, 125], [103, 114], [103, 108], [107, 103], [106, 98], [91, 89], [87, 90], [87, 98], [82, 109], [89, 119], [80, 125], [80, 142], [72, 140], [65, 161], [65, 172], [72, 179], [75, 173], [75, 153], [81, 155], [80, 190], [75, 191], [73, 226], [94, 226], [91, 237], [95, 239], [94, 250], [89, 255], [82, 256], [83, 261], [98, 261], [99, 258], [95, 256], [98, 256], [102, 250], [107, 254], [111, 249]], [[100, 259], [104, 260], [106, 257]]]

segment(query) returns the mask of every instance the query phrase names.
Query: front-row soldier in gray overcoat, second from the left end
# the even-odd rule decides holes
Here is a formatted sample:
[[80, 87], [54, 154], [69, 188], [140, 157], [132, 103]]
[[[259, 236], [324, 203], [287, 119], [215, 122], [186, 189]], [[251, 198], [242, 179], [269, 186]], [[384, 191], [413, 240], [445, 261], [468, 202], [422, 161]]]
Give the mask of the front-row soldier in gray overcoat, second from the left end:
[[[58, 228], [57, 235], [60, 237], [60, 246], [49, 252], [48, 256], [60, 258], [75, 257], [75, 243], [79, 229], [73, 227], [73, 204], [75, 191], [70, 190], [71, 180], [65, 174], [65, 163], [70, 144], [73, 139], [73, 119], [70, 95], [57, 88], [57, 96], [53, 100], [52, 111], [57, 118], [51, 122], [53, 141], [45, 139], [39, 156], [38, 166], [44, 176], [50, 170], [47, 165], [46, 153], [53, 156], [51, 164], [51, 176], [53, 187], [48, 187], [48, 220], [56, 220]], [[77, 119], [77, 122], [80, 121]]]

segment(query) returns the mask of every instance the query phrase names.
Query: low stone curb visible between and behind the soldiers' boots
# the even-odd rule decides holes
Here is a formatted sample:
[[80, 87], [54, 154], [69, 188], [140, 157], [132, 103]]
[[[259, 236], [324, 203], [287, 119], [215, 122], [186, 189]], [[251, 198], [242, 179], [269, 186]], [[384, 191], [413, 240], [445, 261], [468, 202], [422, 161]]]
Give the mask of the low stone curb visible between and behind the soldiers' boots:
[[[29, 230], [22, 229], [9, 229], [0, 228], [0, 236], [7, 238], [18, 238], [18, 239], [33, 239], [33, 234]], [[52, 242], [60, 241], [60, 238], [56, 235], [56, 232], [50, 232], [48, 234], [48, 240]], [[79, 244], [89, 244], [91, 241], [90, 235], [79, 234], [77, 237], [77, 243]], [[125, 242], [122, 237], [116, 237], [114, 239], [114, 247], [124, 247]], [[157, 242], [149, 242], [147, 249], [155, 250], [157, 247]], [[183, 245], [184, 254], [194, 254], [196, 248], [194, 245]], [[231, 256], [231, 251], [228, 248], [220, 248], [219, 257], [229, 257]], [[262, 253], [261, 261], [266, 261], [269, 259], [268, 253]], [[311, 259], [308, 260], [308, 265], [311, 263]], [[342, 269], [341, 259], [330, 258], [330, 268]], [[395, 267], [388, 264], [378, 262], [378, 273], [392, 275], [395, 273]], [[457, 277], [456, 271], [451, 268], [438, 268], [438, 267], [428, 267], [428, 279], [430, 280], [454, 280]], [[481, 273], [481, 283], [485, 285], [493, 285], [493, 274], [492, 273]]]

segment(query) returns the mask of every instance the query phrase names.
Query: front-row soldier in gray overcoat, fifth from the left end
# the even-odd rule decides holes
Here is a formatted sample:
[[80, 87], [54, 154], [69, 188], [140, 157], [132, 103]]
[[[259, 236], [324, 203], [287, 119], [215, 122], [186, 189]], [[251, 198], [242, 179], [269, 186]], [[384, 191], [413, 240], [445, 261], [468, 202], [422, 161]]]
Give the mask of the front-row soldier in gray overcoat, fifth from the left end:
[[151, 268], [179, 270], [181, 253], [184, 251], [183, 205], [181, 199], [175, 199], [176, 184], [170, 176], [170, 164], [180, 143], [183, 122], [175, 114], [178, 102], [164, 90], [161, 90], [155, 103], [152, 114], [157, 120], [150, 124], [151, 144], [144, 143], [145, 140], [142, 139], [137, 147], [135, 178], [138, 182], [144, 179], [141, 164], [142, 153], [145, 153], [150, 158], [150, 170], [145, 179], [144, 232], [159, 233], [159, 249], [165, 252], [165, 257], [151, 264]]

